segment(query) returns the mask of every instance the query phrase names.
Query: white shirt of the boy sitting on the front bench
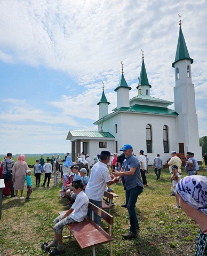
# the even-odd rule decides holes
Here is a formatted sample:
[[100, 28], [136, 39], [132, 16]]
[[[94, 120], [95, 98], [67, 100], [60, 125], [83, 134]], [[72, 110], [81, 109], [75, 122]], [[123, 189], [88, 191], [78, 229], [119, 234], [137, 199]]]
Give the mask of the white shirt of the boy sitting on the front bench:
[[78, 193], [75, 203], [71, 208], [73, 208], [74, 211], [69, 216], [77, 222], [83, 221], [89, 208], [89, 198], [87, 198], [83, 191]]

